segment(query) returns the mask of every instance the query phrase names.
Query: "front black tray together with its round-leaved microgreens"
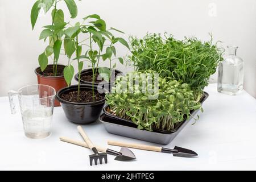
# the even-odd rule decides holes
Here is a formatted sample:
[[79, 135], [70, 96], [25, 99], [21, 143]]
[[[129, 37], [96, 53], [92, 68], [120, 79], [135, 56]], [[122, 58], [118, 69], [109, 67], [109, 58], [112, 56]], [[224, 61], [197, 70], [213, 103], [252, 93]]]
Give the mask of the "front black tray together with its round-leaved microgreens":
[[[120, 130], [126, 129], [121, 135], [150, 142], [154, 142], [162, 135], [159, 139], [160, 143], [167, 144], [182, 129], [181, 126], [193, 118], [195, 115], [193, 112], [201, 109], [200, 102], [203, 100], [195, 101], [193, 91], [187, 83], [162, 76], [155, 80], [153, 73], [156, 72], [139, 71], [118, 77], [113, 88], [114, 92], [106, 94], [108, 105], [104, 107], [105, 117], [103, 119], [101, 117], [101, 120], [116, 125], [109, 126], [112, 133], [120, 134], [118, 133]], [[152, 81], [148, 80], [155, 82], [152, 84]], [[148, 87], [148, 85], [152, 86]], [[115, 127], [114, 131], [112, 127]], [[137, 130], [130, 131], [129, 127]]]

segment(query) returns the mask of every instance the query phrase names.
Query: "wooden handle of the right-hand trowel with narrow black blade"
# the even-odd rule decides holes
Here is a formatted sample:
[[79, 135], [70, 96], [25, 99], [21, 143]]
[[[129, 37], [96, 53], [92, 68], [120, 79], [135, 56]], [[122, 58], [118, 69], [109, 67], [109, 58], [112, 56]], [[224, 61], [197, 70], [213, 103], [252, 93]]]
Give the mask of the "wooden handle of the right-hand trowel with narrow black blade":
[[110, 144], [112, 146], [137, 148], [137, 149], [141, 149], [141, 150], [150, 150], [150, 151], [156, 151], [156, 152], [161, 152], [162, 151], [162, 147], [146, 146], [144, 144], [123, 143], [123, 142], [117, 142], [117, 141], [112, 141], [112, 140], [109, 140], [108, 144]]

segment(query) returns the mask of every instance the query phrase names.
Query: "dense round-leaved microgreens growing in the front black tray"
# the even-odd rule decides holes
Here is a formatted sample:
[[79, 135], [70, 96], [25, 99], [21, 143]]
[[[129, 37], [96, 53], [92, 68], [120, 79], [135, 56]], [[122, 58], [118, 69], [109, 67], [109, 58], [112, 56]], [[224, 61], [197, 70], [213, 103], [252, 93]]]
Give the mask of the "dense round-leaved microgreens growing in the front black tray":
[[[114, 93], [106, 94], [108, 111], [117, 117], [130, 119], [138, 129], [151, 131], [155, 128], [171, 131], [175, 129], [177, 123], [191, 116], [191, 110], [201, 109], [201, 104], [195, 101], [189, 84], [162, 76], [158, 78], [159, 89], [154, 93], [155, 99], [152, 99], [151, 89], [154, 89], [154, 86], [148, 80], [154, 78], [148, 79], [144, 76], [152, 73], [156, 72], [150, 70], [134, 72], [132, 80], [129, 75], [118, 77], [115, 81]], [[137, 84], [131, 84], [131, 82], [135, 83], [135, 80]], [[130, 92], [131, 90], [133, 92]]]

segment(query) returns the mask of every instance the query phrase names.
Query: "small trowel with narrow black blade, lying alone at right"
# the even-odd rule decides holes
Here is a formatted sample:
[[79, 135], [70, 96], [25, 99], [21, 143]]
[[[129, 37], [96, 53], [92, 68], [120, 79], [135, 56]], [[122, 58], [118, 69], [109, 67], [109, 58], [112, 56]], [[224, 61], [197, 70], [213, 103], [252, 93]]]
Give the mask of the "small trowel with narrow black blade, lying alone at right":
[[191, 158], [191, 157], [197, 156], [196, 152], [189, 150], [187, 148], [181, 148], [177, 146], [175, 146], [174, 149], [171, 149], [171, 148], [164, 148], [164, 147], [146, 146], [143, 144], [115, 142], [115, 141], [108, 141], [108, 144], [113, 146], [130, 147], [130, 148], [137, 148], [141, 150], [171, 153], [174, 156], [179, 156], [183, 158]]

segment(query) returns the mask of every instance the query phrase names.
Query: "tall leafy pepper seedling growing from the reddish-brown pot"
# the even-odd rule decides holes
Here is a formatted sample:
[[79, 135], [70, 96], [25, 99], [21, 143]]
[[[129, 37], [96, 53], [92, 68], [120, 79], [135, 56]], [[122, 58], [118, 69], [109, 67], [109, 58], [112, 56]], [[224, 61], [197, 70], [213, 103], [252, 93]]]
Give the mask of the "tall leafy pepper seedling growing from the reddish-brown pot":
[[[68, 25], [68, 22], [64, 20], [64, 12], [61, 9], [57, 9], [57, 5], [60, 2], [64, 2], [69, 10], [71, 15], [71, 19], [76, 18], [77, 16], [77, 5], [74, 0], [38, 0], [34, 3], [31, 9], [31, 25], [34, 30], [36, 20], [38, 19], [38, 15], [40, 10], [43, 9], [44, 13], [47, 13], [49, 10], [51, 11], [52, 23], [46, 26], [43, 26], [44, 30], [40, 33], [40, 40], [48, 39], [48, 46], [44, 50], [42, 54], [39, 55], [38, 61], [43, 72], [48, 65], [48, 57], [53, 60], [53, 76], [57, 76], [57, 63], [60, 56], [61, 45], [63, 44], [63, 36], [65, 32], [65, 28]], [[72, 47], [73, 48], [73, 47]], [[53, 57], [51, 56], [53, 54]], [[70, 59], [70, 55], [68, 55]], [[67, 82], [68, 85], [70, 82]]]

